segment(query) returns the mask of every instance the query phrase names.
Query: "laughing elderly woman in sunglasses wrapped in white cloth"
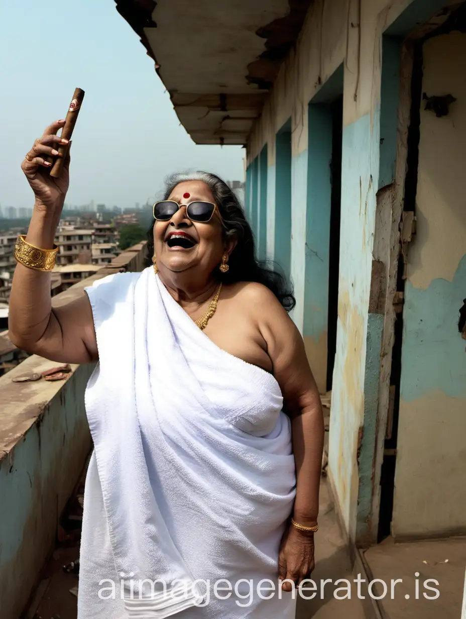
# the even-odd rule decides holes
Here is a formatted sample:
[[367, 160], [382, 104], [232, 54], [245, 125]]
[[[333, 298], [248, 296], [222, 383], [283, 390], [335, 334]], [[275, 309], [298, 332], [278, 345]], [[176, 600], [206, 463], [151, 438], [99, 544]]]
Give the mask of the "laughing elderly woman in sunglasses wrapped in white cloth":
[[291, 619], [314, 567], [323, 442], [294, 298], [257, 262], [235, 194], [196, 172], [153, 207], [153, 266], [52, 308], [69, 155], [58, 180], [48, 155], [63, 123], [22, 163], [35, 206], [9, 329], [41, 357], [98, 361], [78, 617]]

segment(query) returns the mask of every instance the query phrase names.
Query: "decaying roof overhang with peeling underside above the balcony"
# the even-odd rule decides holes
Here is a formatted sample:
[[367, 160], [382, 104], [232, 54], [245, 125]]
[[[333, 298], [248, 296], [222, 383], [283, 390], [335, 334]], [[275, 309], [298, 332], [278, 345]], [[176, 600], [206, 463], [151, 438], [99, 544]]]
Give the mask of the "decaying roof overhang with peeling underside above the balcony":
[[246, 144], [312, 0], [115, 0], [196, 144]]

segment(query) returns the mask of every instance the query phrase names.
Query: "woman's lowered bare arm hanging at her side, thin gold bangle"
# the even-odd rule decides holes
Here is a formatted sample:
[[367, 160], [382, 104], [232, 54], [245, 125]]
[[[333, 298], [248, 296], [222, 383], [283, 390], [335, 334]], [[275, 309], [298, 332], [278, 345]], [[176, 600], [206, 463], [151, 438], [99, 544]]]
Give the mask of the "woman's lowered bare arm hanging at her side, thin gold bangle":
[[[298, 524], [312, 527], [317, 524], [319, 513], [324, 446], [321, 397], [300, 332], [275, 298], [267, 301], [266, 315], [262, 314], [260, 328], [273, 363], [274, 376], [282, 389], [285, 412], [291, 420], [296, 463], [293, 519]], [[314, 534], [301, 532], [291, 525], [282, 540], [279, 575], [298, 584], [304, 578], [309, 578], [313, 569]], [[291, 591], [291, 584], [283, 584], [283, 589]]]

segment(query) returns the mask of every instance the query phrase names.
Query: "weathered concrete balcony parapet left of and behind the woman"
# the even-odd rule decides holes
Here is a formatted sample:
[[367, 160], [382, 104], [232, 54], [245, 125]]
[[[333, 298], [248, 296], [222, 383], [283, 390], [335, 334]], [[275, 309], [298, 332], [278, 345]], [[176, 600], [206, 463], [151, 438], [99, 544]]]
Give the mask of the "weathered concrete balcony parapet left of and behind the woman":
[[[97, 274], [53, 297], [64, 305], [122, 268], [145, 266], [145, 243]], [[2, 334], [7, 338], [7, 334]], [[53, 550], [59, 517], [92, 447], [84, 392], [95, 364], [72, 365], [64, 381], [13, 383], [12, 378], [59, 365], [32, 355], [0, 377], [0, 604], [17, 619]]]

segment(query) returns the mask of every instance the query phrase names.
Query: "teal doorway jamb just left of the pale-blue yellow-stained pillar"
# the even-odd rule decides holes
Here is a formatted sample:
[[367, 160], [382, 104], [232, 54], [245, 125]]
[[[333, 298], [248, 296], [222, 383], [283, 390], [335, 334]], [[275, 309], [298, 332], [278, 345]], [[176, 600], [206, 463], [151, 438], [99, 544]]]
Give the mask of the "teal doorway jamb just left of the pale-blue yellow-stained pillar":
[[332, 180], [332, 113], [329, 106], [309, 105], [308, 196], [303, 335], [318, 340], [327, 331], [329, 306], [329, 237]]

